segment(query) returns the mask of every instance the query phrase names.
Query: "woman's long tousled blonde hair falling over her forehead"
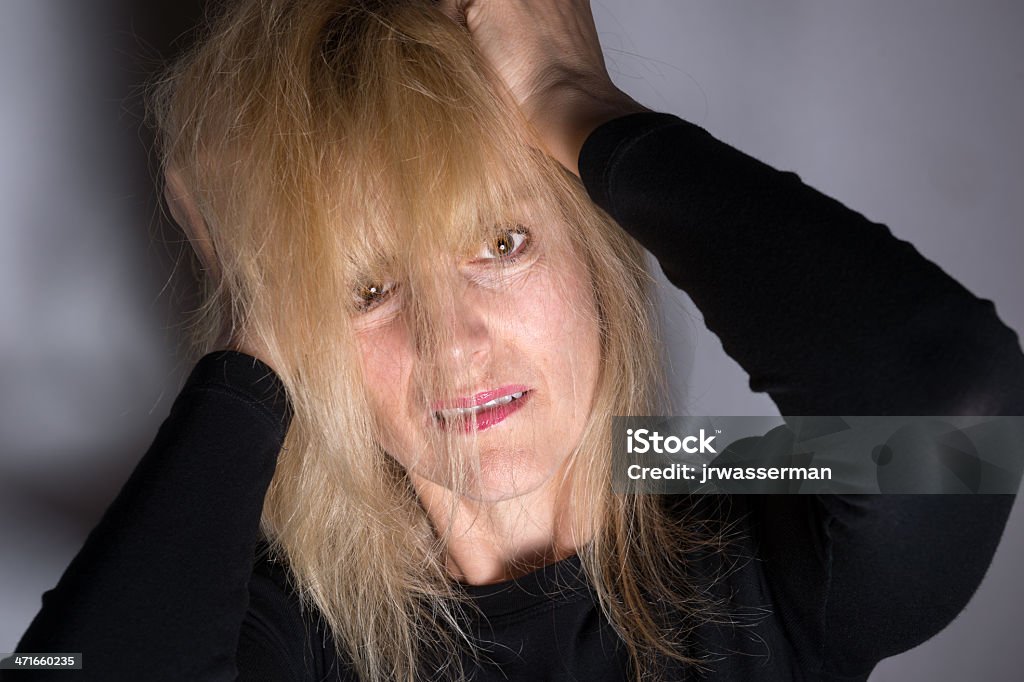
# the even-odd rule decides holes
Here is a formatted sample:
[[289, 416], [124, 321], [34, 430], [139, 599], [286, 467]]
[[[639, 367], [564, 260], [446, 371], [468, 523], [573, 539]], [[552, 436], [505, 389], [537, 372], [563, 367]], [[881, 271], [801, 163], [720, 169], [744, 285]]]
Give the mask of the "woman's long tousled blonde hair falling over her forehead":
[[429, 0], [231, 3], [153, 97], [165, 172], [217, 264], [195, 352], [215, 348], [225, 321], [241, 326], [287, 387], [295, 417], [262, 529], [360, 679], [413, 680], [424, 662], [460, 678], [459, 654], [474, 645], [466, 600], [445, 569], [444, 529], [380, 445], [346, 303], [359, 278], [399, 273], [429, 355], [450, 334], [431, 322], [440, 303], [423, 265], [434, 247], [479, 244], [524, 195], [556, 212], [592, 279], [601, 345], [564, 469], [573, 531], [588, 539], [579, 554], [637, 679], [659, 659], [695, 664], [688, 631], [666, 614], [708, 617], [683, 555], [718, 540], [670, 520], [658, 498], [610, 485], [611, 416], [665, 406], [642, 250], [536, 151], [497, 83]]

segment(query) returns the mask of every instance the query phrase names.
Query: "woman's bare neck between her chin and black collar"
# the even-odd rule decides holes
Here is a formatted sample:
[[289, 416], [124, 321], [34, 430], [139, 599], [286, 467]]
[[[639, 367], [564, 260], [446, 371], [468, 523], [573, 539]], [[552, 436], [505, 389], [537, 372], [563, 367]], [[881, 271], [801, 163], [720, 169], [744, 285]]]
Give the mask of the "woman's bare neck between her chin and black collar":
[[[445, 540], [452, 578], [469, 585], [512, 580], [575, 554], [569, 485], [552, 476], [535, 491], [499, 501], [459, 496], [411, 474], [437, 532]], [[586, 539], [582, 539], [586, 542]]]

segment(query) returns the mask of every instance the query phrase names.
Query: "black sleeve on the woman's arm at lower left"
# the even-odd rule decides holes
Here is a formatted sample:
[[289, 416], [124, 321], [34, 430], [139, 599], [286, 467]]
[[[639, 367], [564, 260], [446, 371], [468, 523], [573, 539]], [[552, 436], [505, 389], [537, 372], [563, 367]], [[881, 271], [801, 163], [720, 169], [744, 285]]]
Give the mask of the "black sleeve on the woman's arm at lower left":
[[[289, 421], [267, 366], [233, 351], [201, 359], [17, 645], [80, 651], [83, 670], [10, 679], [237, 679], [263, 498]], [[254, 639], [250, 627], [244, 644]]]

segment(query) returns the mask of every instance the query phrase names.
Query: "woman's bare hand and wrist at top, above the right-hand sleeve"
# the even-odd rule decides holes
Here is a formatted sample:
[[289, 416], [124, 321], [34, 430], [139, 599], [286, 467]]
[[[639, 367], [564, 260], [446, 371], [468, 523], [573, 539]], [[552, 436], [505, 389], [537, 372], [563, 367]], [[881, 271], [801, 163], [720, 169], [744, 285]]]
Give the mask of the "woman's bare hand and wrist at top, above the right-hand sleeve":
[[469, 28], [541, 141], [580, 173], [587, 136], [611, 119], [646, 111], [604, 66], [589, 0], [441, 0]]

